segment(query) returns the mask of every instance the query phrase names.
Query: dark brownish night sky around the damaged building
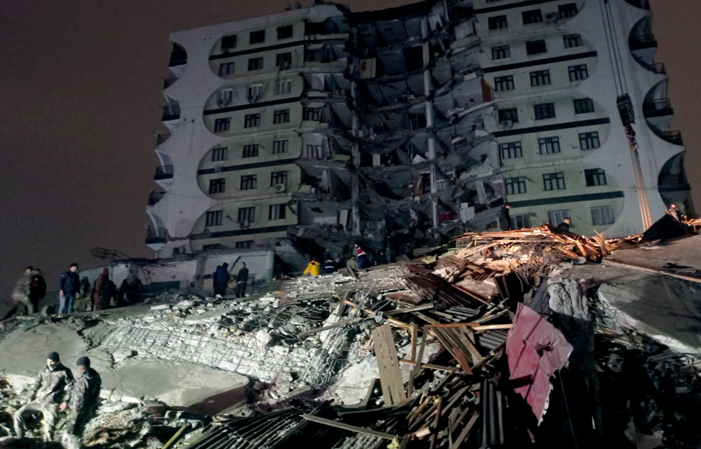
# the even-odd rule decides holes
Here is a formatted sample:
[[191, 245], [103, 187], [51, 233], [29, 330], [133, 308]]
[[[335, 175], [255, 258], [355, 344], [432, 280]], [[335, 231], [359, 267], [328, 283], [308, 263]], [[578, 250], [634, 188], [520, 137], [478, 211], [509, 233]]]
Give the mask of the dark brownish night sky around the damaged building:
[[[410, 1], [346, 3], [365, 11]], [[168, 34], [279, 12], [284, 5], [0, 1], [0, 299], [27, 264], [41, 267], [49, 288], [56, 288], [71, 262], [100, 264], [89, 253], [96, 246], [131, 257], [154, 255], [144, 246], [144, 210], [154, 187]], [[653, 0], [653, 10], [658, 60], [672, 77], [676, 126], [701, 168], [701, 1]], [[699, 206], [700, 194], [697, 189]]]

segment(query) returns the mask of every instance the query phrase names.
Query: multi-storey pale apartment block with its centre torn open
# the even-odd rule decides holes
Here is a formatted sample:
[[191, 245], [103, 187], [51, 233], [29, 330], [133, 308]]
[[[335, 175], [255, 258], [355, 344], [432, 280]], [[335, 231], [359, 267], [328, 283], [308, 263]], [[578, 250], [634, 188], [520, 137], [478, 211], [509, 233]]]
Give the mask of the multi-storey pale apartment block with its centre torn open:
[[171, 39], [147, 208], [163, 257], [292, 238], [391, 261], [496, 227], [505, 202], [515, 228], [639, 233], [623, 93], [653, 217], [692, 211], [646, 2], [318, 4]]

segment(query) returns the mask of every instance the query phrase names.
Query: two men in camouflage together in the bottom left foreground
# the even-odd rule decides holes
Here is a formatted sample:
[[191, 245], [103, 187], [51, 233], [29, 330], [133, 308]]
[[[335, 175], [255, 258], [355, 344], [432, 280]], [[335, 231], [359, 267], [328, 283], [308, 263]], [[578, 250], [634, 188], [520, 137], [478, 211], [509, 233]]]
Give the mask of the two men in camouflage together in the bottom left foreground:
[[88, 421], [93, 417], [100, 398], [102, 380], [100, 374], [90, 368], [90, 358], [82, 356], [76, 362], [77, 374], [61, 363], [57, 352], [46, 356], [46, 366], [29, 387], [28, 402], [14, 415], [15, 436], [25, 436], [25, 416], [41, 413], [43, 417], [43, 439], [53, 440], [53, 430], [59, 413], [69, 410], [63, 442], [66, 448], [81, 447], [81, 436]]

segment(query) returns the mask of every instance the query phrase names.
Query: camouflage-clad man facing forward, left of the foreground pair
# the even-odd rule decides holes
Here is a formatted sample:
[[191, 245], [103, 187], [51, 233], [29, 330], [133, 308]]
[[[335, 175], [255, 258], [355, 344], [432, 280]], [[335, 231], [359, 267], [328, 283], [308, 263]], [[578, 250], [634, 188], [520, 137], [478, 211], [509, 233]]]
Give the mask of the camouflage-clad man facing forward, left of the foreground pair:
[[51, 432], [56, 422], [58, 404], [63, 401], [65, 390], [73, 384], [73, 373], [62, 365], [57, 352], [46, 356], [46, 366], [41, 368], [39, 375], [29, 387], [29, 403], [15, 412], [15, 434], [18, 438], [25, 437], [25, 418], [27, 413], [40, 412], [43, 415], [43, 438], [51, 441]]

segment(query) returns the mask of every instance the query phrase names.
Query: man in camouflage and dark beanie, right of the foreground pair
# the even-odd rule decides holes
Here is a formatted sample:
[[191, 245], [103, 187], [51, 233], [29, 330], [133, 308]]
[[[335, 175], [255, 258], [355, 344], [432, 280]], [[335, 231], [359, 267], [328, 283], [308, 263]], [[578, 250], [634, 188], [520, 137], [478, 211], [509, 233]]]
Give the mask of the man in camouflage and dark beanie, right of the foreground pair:
[[71, 410], [66, 432], [63, 435], [63, 442], [67, 449], [81, 447], [83, 430], [95, 414], [97, 401], [100, 399], [100, 387], [102, 387], [100, 373], [90, 368], [90, 358], [80, 357], [76, 365], [78, 366], [76, 380], [59, 407], [59, 410], [65, 410], [66, 407]]

